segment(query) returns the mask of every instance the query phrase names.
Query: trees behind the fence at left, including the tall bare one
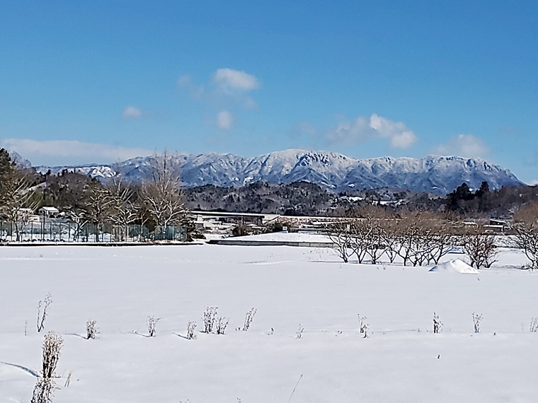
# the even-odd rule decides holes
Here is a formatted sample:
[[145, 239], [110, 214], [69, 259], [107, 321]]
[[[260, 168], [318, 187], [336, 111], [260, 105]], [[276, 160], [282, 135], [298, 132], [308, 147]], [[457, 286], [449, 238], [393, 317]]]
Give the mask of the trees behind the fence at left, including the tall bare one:
[[164, 153], [151, 158], [149, 180], [103, 185], [96, 178], [67, 170], [42, 175], [34, 168], [19, 168], [1, 148], [0, 219], [14, 224], [17, 240], [21, 240], [20, 226], [42, 206], [56, 207], [77, 228], [91, 224], [96, 241], [106, 224], [120, 228], [121, 239], [127, 238], [130, 225], [157, 231], [161, 239], [166, 238], [166, 228], [181, 226], [189, 238], [195, 228], [185, 206], [180, 168], [175, 158]]

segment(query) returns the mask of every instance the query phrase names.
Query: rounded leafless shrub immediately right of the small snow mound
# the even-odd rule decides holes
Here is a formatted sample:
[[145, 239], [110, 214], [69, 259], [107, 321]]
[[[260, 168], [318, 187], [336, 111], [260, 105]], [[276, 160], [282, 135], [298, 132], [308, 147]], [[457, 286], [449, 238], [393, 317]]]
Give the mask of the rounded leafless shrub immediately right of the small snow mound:
[[496, 261], [495, 237], [484, 233], [483, 226], [467, 230], [467, 233], [462, 237], [462, 247], [471, 260], [471, 266], [476, 267], [476, 269], [489, 268]]

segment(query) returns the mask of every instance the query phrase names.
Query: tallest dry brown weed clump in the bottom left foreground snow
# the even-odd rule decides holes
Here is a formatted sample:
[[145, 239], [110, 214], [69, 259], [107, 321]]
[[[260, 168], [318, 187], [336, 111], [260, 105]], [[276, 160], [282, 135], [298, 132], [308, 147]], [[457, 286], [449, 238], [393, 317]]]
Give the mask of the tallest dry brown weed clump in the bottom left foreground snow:
[[53, 392], [57, 388], [54, 378], [59, 354], [64, 341], [55, 332], [48, 332], [43, 341], [42, 370], [35, 384], [30, 403], [52, 403]]

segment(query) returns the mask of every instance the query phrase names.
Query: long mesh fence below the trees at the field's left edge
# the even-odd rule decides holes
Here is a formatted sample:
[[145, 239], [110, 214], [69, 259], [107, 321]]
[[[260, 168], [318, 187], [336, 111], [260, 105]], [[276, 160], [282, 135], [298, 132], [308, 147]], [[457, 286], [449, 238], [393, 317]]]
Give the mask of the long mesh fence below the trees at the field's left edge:
[[74, 223], [57, 218], [41, 221], [0, 221], [0, 240], [3, 242], [66, 242], [66, 243], [147, 243], [155, 240], [184, 241], [181, 226], [156, 227], [130, 224], [119, 226], [104, 223]]

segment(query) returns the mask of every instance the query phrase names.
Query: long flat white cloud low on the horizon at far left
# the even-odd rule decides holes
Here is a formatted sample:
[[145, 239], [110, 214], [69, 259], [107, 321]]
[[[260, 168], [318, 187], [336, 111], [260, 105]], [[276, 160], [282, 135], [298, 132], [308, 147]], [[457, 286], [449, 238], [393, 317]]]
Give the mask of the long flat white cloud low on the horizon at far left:
[[83, 163], [114, 163], [137, 156], [149, 156], [144, 148], [127, 148], [82, 141], [4, 139], [1, 146], [21, 154], [34, 165], [71, 165]]

